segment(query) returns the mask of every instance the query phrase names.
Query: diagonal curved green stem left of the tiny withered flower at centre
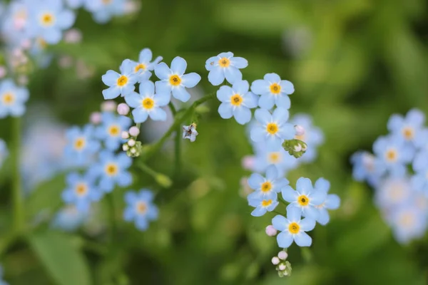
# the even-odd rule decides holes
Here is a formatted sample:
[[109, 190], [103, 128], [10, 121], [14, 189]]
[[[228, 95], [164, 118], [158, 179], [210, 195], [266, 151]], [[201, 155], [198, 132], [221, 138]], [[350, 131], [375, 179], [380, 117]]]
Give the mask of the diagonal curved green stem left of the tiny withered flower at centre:
[[152, 157], [156, 152], [158, 152], [158, 150], [163, 146], [165, 141], [168, 140], [170, 135], [174, 133], [174, 131], [177, 130], [178, 127], [180, 127], [180, 125], [186, 120], [186, 118], [188, 118], [193, 113], [193, 110], [195, 110], [195, 108], [198, 107], [198, 105], [205, 103], [206, 101], [214, 98], [214, 95], [215, 93], [210, 93], [205, 97], [200, 98], [199, 100], [196, 100], [195, 102], [193, 102], [190, 108], [185, 110], [185, 112], [182, 113], [180, 116], [177, 116], [177, 118], [175, 118], [173, 125], [170, 126], [170, 128], [166, 131], [163, 137], [160, 140], [158, 140], [158, 142], [156, 142], [154, 145], [150, 145], [147, 147], [146, 152], [143, 153], [143, 155], [141, 155], [141, 160], [146, 161], [150, 157]]

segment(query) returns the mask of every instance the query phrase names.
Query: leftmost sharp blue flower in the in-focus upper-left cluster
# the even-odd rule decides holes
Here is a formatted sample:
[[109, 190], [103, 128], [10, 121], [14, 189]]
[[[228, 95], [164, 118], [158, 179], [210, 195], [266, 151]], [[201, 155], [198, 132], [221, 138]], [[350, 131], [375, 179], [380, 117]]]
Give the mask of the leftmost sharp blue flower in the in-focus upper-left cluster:
[[138, 81], [138, 76], [134, 73], [133, 63], [131, 60], [126, 59], [119, 67], [121, 73], [116, 71], [107, 71], [102, 76], [103, 83], [108, 86], [108, 89], [103, 90], [104, 99], [114, 99], [118, 95], [126, 96], [133, 93], [136, 89], [135, 84]]

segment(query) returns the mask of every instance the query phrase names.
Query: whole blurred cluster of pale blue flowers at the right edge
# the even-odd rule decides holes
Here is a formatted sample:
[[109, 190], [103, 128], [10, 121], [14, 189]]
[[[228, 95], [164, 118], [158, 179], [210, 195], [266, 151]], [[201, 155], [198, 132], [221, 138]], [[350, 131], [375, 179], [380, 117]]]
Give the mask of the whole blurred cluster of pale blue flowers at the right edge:
[[374, 201], [398, 242], [407, 244], [428, 227], [428, 128], [420, 110], [392, 115], [389, 134], [373, 152], [352, 155], [353, 176], [374, 188]]

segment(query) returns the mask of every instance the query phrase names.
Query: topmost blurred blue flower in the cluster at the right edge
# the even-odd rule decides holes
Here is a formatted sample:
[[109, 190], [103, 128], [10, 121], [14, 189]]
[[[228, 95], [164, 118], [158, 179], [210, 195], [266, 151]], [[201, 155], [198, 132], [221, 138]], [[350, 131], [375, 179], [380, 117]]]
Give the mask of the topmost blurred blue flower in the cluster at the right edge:
[[392, 135], [402, 138], [406, 142], [414, 142], [422, 130], [425, 115], [420, 110], [409, 110], [406, 117], [394, 114], [388, 120], [388, 130]]

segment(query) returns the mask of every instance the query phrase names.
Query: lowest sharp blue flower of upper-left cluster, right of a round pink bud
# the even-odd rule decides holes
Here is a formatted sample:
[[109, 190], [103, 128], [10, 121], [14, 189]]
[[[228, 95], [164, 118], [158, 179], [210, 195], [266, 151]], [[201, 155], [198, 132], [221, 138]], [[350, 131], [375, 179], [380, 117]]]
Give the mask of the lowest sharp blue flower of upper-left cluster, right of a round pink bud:
[[136, 123], [143, 123], [148, 117], [152, 120], [166, 120], [166, 113], [161, 107], [168, 105], [170, 95], [155, 94], [155, 84], [151, 81], [143, 81], [140, 84], [140, 93], [131, 93], [125, 100], [130, 107], [135, 108], [132, 115]]

